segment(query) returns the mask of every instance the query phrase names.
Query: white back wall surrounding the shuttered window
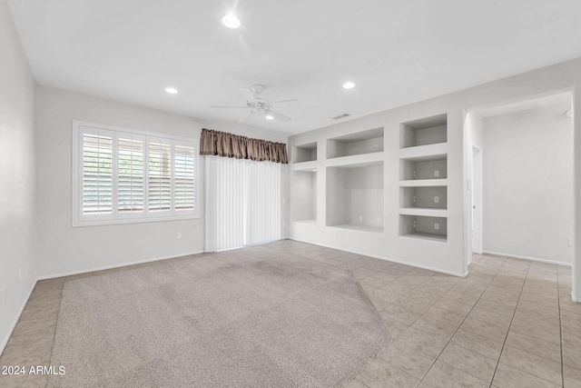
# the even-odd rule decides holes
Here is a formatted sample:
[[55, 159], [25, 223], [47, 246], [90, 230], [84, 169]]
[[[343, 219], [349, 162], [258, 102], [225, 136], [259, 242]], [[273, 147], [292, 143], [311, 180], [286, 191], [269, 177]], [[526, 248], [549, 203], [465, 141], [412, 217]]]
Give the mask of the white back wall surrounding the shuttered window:
[[[39, 85], [36, 93], [39, 275], [54, 276], [107, 266], [203, 252], [204, 186], [201, 157], [201, 218], [72, 227], [72, 121], [116, 125], [160, 134], [200, 138], [202, 127], [286, 141], [247, 128], [124, 104]], [[267, 138], [268, 137], [268, 138]], [[182, 233], [182, 239], [177, 234]]]

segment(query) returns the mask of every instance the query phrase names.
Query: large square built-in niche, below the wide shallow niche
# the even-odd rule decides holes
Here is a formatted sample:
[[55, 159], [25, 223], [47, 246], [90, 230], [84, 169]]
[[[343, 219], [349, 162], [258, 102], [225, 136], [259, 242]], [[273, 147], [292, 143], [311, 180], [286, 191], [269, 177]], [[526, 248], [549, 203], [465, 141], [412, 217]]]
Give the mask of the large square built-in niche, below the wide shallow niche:
[[383, 233], [383, 163], [327, 168], [327, 226]]

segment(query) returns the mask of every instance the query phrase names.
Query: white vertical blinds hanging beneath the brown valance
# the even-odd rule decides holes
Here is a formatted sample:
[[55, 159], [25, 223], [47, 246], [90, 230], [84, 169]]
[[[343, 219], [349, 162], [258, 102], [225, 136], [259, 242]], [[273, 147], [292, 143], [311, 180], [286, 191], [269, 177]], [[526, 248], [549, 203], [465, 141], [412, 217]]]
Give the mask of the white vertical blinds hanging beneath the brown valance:
[[206, 251], [281, 238], [281, 164], [206, 156]]

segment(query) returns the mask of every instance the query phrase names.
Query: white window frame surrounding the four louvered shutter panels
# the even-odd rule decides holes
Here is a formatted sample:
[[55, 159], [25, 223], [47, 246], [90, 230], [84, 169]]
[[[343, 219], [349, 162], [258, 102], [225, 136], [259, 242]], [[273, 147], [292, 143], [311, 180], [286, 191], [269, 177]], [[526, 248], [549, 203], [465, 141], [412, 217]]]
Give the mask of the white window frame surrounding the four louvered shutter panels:
[[[83, 134], [103, 134], [112, 137], [112, 212], [83, 213]], [[119, 138], [135, 136], [143, 140], [143, 211], [135, 214], [119, 212]], [[170, 144], [170, 210], [149, 210], [149, 143], [162, 140]], [[175, 146], [193, 148], [193, 209], [175, 209]], [[72, 205], [73, 226], [135, 224], [200, 218], [200, 140], [182, 136], [158, 134], [125, 127], [73, 120], [72, 136]]]

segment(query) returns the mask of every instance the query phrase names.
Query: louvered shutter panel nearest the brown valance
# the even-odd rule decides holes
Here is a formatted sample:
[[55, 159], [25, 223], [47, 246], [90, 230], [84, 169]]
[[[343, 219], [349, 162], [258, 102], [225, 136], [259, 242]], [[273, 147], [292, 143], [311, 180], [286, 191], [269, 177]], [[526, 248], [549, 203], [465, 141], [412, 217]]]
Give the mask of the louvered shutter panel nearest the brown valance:
[[176, 211], [193, 211], [194, 209], [194, 148], [186, 144], [175, 143], [174, 160], [174, 201]]

